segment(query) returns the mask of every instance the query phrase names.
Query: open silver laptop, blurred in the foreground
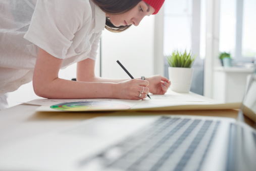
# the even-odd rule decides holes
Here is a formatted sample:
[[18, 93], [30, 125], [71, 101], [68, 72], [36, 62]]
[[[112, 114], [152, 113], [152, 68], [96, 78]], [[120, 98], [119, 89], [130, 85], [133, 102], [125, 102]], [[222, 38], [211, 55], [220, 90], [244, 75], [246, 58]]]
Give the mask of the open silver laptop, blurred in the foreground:
[[256, 170], [256, 73], [238, 118], [112, 116], [0, 148], [0, 170]]

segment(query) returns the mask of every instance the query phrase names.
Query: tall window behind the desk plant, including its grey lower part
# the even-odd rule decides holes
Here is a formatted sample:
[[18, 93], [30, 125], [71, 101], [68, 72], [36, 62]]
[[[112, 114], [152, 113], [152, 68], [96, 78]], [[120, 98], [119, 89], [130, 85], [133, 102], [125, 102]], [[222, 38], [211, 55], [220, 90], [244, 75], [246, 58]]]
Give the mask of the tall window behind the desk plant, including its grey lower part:
[[[191, 92], [203, 95], [203, 58], [206, 54], [206, 1], [168, 0], [164, 5], [164, 53], [173, 50], [192, 50], [197, 54], [192, 66]], [[169, 64], [165, 58], [165, 76]]]

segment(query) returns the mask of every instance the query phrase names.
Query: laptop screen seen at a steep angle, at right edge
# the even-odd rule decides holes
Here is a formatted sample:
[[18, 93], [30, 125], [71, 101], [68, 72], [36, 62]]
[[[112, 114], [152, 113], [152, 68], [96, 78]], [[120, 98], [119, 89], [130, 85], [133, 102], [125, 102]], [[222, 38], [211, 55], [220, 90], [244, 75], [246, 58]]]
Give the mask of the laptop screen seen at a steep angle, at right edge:
[[256, 65], [254, 66], [253, 73], [248, 76], [249, 81], [247, 83], [247, 90], [245, 98], [243, 100], [243, 113], [249, 116], [251, 119], [254, 118], [256, 121]]

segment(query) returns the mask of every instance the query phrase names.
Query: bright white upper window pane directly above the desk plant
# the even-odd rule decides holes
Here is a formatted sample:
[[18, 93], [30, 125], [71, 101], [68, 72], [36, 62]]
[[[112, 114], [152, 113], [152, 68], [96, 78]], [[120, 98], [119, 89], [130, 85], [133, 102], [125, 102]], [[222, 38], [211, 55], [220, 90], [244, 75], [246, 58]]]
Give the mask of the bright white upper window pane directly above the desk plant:
[[169, 0], [164, 5], [164, 52], [190, 50], [192, 30], [192, 0]]

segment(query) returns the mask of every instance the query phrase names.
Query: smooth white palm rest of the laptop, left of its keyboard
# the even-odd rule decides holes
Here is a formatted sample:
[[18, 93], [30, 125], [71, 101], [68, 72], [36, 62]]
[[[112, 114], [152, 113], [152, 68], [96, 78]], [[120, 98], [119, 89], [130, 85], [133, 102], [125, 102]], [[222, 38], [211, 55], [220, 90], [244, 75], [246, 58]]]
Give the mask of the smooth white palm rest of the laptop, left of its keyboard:
[[100, 117], [1, 149], [1, 168], [72, 170], [79, 161], [152, 123], [158, 117]]

